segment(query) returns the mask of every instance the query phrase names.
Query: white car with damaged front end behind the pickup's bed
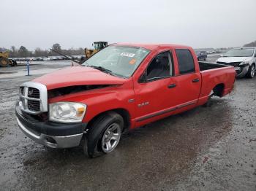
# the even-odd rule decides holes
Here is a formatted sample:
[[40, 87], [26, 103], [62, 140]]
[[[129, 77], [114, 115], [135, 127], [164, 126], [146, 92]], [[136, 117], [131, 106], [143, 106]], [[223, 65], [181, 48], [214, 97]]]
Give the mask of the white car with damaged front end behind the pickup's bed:
[[256, 66], [256, 47], [239, 47], [233, 48], [221, 58], [217, 63], [234, 66], [236, 77], [255, 77]]

